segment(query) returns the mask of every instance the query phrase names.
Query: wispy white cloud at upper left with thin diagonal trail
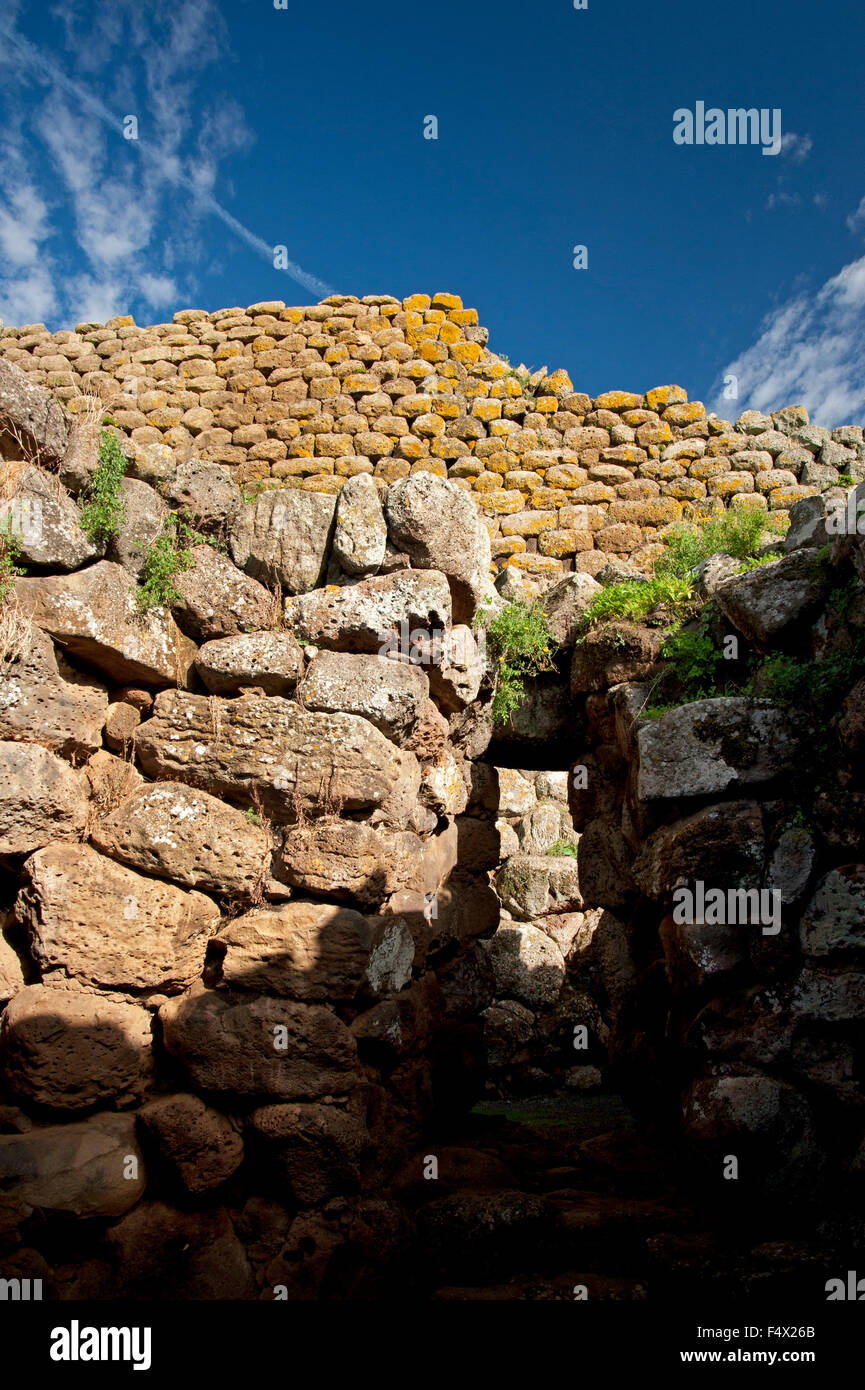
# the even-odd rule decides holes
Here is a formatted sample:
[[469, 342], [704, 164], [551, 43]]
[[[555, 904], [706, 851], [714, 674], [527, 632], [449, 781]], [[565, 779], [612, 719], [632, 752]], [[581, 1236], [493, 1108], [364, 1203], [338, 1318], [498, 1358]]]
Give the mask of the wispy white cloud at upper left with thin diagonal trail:
[[[156, 309], [171, 296], [192, 297], [209, 218], [273, 267], [273, 246], [218, 196], [225, 160], [252, 133], [236, 103], [213, 103], [197, 81], [228, 42], [214, 0], [113, 0], [96, 8], [64, 0], [53, 11], [63, 63], [17, 31], [18, 11], [15, 3], [0, 19], [0, 49], [17, 60], [4, 83], [17, 83], [32, 110], [28, 136], [19, 124], [8, 128], [0, 170], [8, 265], [0, 267], [0, 313], [15, 322], [26, 304], [31, 318], [106, 318], [134, 303]], [[129, 114], [138, 140], [124, 139]], [[32, 171], [24, 181], [22, 167]], [[165, 235], [172, 227], [182, 227], [182, 254]], [[331, 292], [293, 261], [280, 268], [316, 295]]]

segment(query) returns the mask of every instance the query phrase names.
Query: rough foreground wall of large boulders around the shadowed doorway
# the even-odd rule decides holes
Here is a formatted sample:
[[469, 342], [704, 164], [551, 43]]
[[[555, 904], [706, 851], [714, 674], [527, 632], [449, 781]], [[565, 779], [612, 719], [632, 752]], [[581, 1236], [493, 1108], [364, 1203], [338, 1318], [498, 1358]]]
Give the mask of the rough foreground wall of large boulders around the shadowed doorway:
[[[731, 695], [649, 717], [665, 614], [579, 641], [599, 585], [570, 574], [542, 598], [556, 670], [498, 731], [535, 769], [494, 766], [471, 624], [503, 600], [467, 478], [403, 459], [395, 481], [268, 473], [280, 485], [249, 496], [249, 457], [132, 438], [122, 525], [95, 539], [99, 432], [74, 417], [0, 359], [24, 571], [0, 605], [4, 1277], [60, 1298], [310, 1298], [369, 1297], [388, 1270], [392, 1290], [430, 1127], [485, 1081], [615, 1080], [670, 1130], [684, 1109], [708, 1191], [733, 1152], [757, 1201], [826, 1175], [855, 1195], [861, 663], [816, 763], [809, 709]], [[826, 492], [804, 484], [770, 563], [713, 557], [697, 587], [741, 660], [833, 671], [865, 634], [862, 537], [826, 516], [861, 441], [797, 411], [775, 424]], [[722, 438], [686, 443], [726, 467]], [[670, 500], [655, 486], [645, 505]], [[140, 546], [171, 509], [200, 543], [142, 612]], [[553, 738], [573, 769], [538, 770]], [[683, 930], [672, 895], [697, 878], [777, 891], [782, 930]]]

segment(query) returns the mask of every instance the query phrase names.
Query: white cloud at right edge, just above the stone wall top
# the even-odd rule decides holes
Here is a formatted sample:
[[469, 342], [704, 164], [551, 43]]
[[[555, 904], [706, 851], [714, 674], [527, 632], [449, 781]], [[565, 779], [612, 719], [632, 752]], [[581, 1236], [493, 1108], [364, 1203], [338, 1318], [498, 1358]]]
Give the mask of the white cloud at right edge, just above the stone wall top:
[[[801, 292], [766, 316], [759, 336], [730, 361], [737, 409], [779, 410], [804, 403], [816, 424], [865, 421], [865, 256], [816, 293]], [[727, 414], [719, 392], [715, 410]]]

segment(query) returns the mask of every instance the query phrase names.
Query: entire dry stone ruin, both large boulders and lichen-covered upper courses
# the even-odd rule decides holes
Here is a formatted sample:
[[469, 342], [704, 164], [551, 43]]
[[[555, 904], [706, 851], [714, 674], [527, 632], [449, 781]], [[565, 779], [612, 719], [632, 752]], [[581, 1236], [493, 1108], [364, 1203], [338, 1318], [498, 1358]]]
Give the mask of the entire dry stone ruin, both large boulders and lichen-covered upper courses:
[[[92, 396], [127, 460], [102, 539]], [[758, 1207], [861, 1202], [862, 480], [859, 428], [590, 399], [446, 293], [4, 328], [0, 1275], [669, 1297], [727, 1258], [693, 1188], [713, 1211], [730, 1155]], [[705, 620], [846, 671], [825, 727], [801, 695], [652, 709], [662, 614], [584, 631], [743, 500], [790, 528], [701, 566]], [[171, 517], [191, 563], [142, 607]], [[494, 726], [481, 626], [516, 596], [555, 664]], [[459, 1129], [611, 1088], [687, 1194], [631, 1131], [556, 1161]], [[811, 1277], [843, 1225], [750, 1236], [730, 1279]]]

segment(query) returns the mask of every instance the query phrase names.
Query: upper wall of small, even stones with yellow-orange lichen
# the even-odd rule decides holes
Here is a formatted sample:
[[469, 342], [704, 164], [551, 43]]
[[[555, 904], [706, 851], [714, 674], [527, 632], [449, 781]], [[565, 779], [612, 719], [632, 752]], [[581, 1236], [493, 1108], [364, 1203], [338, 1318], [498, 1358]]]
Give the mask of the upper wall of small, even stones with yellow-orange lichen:
[[859, 427], [814, 427], [801, 406], [733, 424], [680, 386], [591, 399], [566, 371], [510, 367], [487, 339], [456, 295], [332, 295], [188, 309], [150, 328], [6, 327], [0, 356], [72, 413], [78, 393], [99, 395], [142, 457], [165, 446], [223, 463], [252, 491], [448, 477], [477, 502], [494, 567], [535, 578], [597, 574], [611, 556], [645, 569], [659, 530], [719, 499], [786, 518], [839, 474], [865, 475]]

